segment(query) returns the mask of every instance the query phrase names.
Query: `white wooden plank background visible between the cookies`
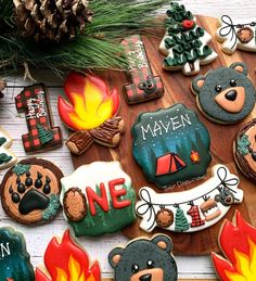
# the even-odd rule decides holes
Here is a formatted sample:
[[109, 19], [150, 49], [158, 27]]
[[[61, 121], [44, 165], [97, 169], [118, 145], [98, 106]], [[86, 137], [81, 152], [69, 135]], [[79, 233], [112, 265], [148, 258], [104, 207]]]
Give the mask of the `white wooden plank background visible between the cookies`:
[[[167, 1], [168, 2], [168, 1]], [[183, 2], [193, 13], [204, 14], [210, 16], [220, 16], [226, 13], [232, 16], [253, 17], [256, 16], [256, 0], [184, 0]], [[165, 10], [162, 10], [164, 13]], [[61, 85], [62, 81], [53, 77], [49, 73], [34, 74], [38, 81], [43, 81], [47, 85]], [[27, 85], [21, 77], [8, 77], [9, 85]], [[0, 125], [3, 126], [13, 136], [14, 142], [12, 150], [16, 153], [18, 159], [27, 157], [23, 150], [21, 135], [27, 132], [24, 114], [17, 114], [14, 105], [14, 97], [22, 90], [20, 89], [7, 89], [5, 98], [0, 100]], [[61, 126], [64, 133], [64, 139], [67, 137], [67, 130], [60, 122], [60, 117], [56, 112], [57, 95], [62, 93], [62, 89], [50, 89], [51, 92], [51, 108], [53, 111], [53, 118], [56, 126]], [[74, 168], [72, 165], [69, 152], [65, 145], [59, 150], [51, 152], [35, 154], [34, 156], [44, 157], [55, 163], [63, 170], [64, 175], [71, 174]], [[4, 171], [0, 171], [0, 180]], [[12, 220], [5, 216], [0, 207], [0, 227], [12, 226], [16, 230], [22, 231], [27, 241], [27, 248], [31, 255], [33, 265], [36, 267], [42, 264], [42, 256], [44, 250], [55, 234], [62, 235], [64, 230], [68, 227], [63, 220], [62, 214], [50, 225], [40, 227], [23, 227], [18, 223], [12, 222]], [[120, 233], [105, 235], [97, 239], [79, 239], [79, 243], [82, 244], [90, 254], [91, 259], [98, 259], [101, 264], [103, 277], [112, 277], [112, 270], [107, 264], [107, 254], [110, 251], [119, 245], [126, 243]], [[210, 259], [208, 256], [203, 257], [177, 257], [179, 278], [214, 278], [214, 270], [212, 268]]]

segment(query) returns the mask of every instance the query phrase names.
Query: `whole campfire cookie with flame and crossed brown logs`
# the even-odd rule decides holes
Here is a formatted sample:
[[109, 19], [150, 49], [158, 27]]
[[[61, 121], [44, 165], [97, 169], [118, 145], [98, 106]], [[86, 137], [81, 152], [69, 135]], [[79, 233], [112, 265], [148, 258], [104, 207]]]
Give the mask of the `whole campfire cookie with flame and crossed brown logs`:
[[116, 116], [119, 95], [99, 77], [71, 73], [65, 82], [68, 101], [59, 98], [57, 110], [74, 135], [66, 141], [74, 154], [84, 153], [93, 142], [114, 148], [124, 132], [124, 120]]

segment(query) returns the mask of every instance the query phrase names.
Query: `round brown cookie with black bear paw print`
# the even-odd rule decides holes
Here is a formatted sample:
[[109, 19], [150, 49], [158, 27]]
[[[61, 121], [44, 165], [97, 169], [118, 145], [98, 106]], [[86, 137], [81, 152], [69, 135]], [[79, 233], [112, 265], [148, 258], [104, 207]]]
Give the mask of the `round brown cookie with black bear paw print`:
[[4, 175], [0, 186], [2, 207], [14, 220], [35, 225], [59, 213], [62, 171], [41, 158], [21, 161]]

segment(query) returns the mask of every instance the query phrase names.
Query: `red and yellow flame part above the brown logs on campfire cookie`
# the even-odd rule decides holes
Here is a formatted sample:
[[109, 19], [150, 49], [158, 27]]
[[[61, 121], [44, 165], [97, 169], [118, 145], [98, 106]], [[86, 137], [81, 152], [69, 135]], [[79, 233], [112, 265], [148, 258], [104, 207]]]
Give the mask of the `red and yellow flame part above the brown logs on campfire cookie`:
[[119, 110], [120, 100], [116, 88], [110, 91], [106, 84], [95, 76], [71, 73], [64, 88], [69, 102], [59, 97], [57, 110], [71, 129], [97, 128]]

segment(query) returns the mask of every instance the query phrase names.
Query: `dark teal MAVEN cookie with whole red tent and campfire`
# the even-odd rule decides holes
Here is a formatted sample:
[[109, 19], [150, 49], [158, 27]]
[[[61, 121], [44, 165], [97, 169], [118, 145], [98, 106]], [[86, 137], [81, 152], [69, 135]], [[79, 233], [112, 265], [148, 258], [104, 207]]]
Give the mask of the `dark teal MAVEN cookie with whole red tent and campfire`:
[[207, 129], [183, 104], [140, 114], [132, 136], [137, 163], [162, 189], [202, 177], [212, 159]]

